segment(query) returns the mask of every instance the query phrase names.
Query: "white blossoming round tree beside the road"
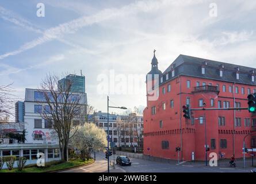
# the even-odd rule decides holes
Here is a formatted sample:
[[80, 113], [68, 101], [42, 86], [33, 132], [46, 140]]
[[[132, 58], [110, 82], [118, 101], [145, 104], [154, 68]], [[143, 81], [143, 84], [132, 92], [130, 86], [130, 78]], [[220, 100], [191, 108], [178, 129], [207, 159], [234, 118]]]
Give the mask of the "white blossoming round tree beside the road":
[[78, 126], [77, 132], [71, 138], [73, 147], [81, 151], [81, 158], [89, 158], [91, 151], [104, 151], [107, 146], [106, 132], [93, 123]]

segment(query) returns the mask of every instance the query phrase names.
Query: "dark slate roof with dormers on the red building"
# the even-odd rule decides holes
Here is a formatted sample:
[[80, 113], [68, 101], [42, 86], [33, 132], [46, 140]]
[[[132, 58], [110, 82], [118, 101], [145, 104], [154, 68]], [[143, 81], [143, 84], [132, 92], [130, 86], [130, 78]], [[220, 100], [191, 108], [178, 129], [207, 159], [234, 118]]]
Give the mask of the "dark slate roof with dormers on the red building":
[[[205, 67], [205, 74], [202, 74], [201, 72], [202, 66]], [[173, 77], [171, 77], [170, 74], [172, 67], [174, 68], [175, 73]], [[223, 70], [223, 77], [220, 76], [220, 68]], [[256, 82], [251, 80], [253, 71], [256, 72], [256, 68], [239, 66], [236, 64], [224, 62], [216, 62], [214, 60], [202, 59], [199, 57], [179, 55], [177, 59], [175, 59], [174, 62], [171, 63], [171, 65], [165, 70], [165, 72], [163, 72], [162, 76], [163, 83], [166, 82], [166, 74], [169, 74], [169, 80], [177, 77], [178, 75], [187, 75], [219, 81], [256, 85]], [[239, 79], [236, 79], [236, 72], [239, 73]]]

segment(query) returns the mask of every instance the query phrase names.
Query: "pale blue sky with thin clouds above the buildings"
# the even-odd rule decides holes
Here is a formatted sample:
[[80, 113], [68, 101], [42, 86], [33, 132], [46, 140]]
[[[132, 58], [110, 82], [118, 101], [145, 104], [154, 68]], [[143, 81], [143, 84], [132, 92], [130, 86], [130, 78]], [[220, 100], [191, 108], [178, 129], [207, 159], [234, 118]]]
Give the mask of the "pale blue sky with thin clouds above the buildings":
[[[36, 16], [39, 2], [45, 17]], [[256, 1], [215, 1], [216, 17], [209, 16], [211, 3], [1, 0], [0, 85], [13, 82], [24, 98], [25, 88], [37, 88], [48, 72], [82, 70], [89, 104], [106, 111], [99, 75], [113, 70], [116, 87], [128, 75], [146, 78], [154, 49], [162, 71], [181, 53], [256, 68]], [[137, 93], [110, 94], [110, 105], [146, 106], [141, 81]]]

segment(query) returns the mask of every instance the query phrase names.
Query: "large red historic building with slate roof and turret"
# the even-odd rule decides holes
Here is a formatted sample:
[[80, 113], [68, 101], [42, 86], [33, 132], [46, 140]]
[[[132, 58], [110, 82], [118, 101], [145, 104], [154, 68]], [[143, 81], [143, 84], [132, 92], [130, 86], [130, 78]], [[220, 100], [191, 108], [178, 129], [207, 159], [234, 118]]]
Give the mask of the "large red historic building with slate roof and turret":
[[[204, 111], [193, 111], [192, 119], [183, 117], [182, 106], [191, 108], [247, 107], [247, 95], [256, 93], [255, 68], [179, 55], [165, 70], [158, 70], [158, 60], [151, 62], [148, 74], [159, 75], [158, 99], [150, 100], [144, 119], [144, 154], [177, 159], [175, 147], [181, 147], [181, 159], [205, 159]], [[147, 79], [147, 86], [154, 78]], [[205, 110], [207, 145], [210, 152], [224, 158], [242, 157], [243, 137], [256, 130], [256, 116], [247, 110]], [[198, 118], [198, 120], [195, 120]], [[246, 147], [256, 147], [256, 135], [246, 138]], [[250, 156], [250, 152], [246, 155]]]

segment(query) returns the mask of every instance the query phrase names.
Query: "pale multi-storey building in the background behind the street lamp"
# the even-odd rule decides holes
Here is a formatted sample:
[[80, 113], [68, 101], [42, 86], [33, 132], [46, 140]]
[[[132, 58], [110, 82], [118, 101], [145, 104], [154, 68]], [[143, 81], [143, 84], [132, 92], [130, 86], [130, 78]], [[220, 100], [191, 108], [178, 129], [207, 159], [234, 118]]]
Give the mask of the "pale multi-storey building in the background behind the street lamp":
[[[90, 115], [90, 120], [98, 127], [108, 130], [108, 113], [101, 111]], [[143, 117], [136, 114], [121, 116], [109, 114], [110, 142], [116, 143], [116, 147], [140, 147], [143, 144]]]

